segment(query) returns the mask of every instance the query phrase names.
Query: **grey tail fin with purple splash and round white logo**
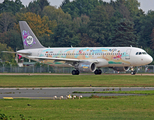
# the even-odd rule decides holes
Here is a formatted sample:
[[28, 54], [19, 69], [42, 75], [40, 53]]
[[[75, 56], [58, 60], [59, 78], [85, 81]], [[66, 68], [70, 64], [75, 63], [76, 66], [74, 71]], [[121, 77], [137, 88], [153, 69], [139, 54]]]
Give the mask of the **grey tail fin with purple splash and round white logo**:
[[19, 21], [24, 49], [44, 48], [26, 21]]

